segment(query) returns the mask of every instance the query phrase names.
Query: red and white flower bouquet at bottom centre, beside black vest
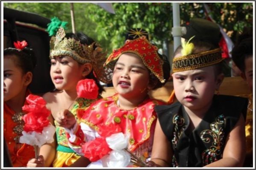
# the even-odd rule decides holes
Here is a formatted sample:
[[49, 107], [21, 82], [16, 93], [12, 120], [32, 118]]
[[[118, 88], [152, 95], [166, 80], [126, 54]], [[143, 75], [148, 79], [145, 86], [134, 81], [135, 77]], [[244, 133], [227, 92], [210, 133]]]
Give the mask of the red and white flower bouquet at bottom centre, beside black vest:
[[101, 159], [103, 167], [127, 167], [133, 164], [144, 167], [146, 164], [129, 152], [128, 137], [116, 124], [98, 125], [100, 137], [82, 144], [84, 156], [91, 162]]

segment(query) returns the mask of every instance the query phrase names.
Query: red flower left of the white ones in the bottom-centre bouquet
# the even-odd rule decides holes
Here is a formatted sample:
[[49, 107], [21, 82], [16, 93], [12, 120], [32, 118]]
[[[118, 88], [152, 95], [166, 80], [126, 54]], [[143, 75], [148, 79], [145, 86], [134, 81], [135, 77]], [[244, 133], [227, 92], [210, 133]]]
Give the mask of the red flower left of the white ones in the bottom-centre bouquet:
[[98, 161], [111, 150], [104, 137], [82, 144], [82, 152], [91, 162]]

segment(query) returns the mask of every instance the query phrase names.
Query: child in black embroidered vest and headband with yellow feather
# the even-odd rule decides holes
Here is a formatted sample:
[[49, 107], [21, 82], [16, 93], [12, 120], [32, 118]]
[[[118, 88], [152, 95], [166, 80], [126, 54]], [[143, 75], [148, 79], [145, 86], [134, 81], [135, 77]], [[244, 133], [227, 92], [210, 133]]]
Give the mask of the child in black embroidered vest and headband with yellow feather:
[[206, 42], [182, 43], [173, 59], [178, 102], [156, 106], [148, 166], [241, 167], [247, 99], [215, 94], [224, 75], [221, 50]]

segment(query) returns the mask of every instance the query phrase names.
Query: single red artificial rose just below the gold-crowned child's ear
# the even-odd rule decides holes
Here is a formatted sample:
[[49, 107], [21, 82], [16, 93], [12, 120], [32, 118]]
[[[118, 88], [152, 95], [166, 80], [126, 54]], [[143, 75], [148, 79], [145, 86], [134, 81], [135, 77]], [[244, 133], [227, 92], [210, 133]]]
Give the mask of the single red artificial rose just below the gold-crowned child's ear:
[[99, 88], [93, 79], [82, 79], [77, 83], [77, 97], [96, 99]]

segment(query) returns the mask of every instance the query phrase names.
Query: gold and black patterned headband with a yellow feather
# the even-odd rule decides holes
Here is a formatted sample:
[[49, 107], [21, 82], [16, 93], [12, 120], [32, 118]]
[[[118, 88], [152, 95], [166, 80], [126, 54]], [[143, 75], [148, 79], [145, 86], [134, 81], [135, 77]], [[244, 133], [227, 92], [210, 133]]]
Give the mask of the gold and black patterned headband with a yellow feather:
[[223, 58], [221, 57], [221, 48], [216, 48], [197, 54], [191, 54], [194, 49], [194, 44], [189, 43], [189, 41], [192, 38], [193, 37], [191, 37], [188, 42], [182, 42], [182, 57], [177, 57], [173, 59], [173, 73], [207, 67], [217, 64], [223, 60]]

